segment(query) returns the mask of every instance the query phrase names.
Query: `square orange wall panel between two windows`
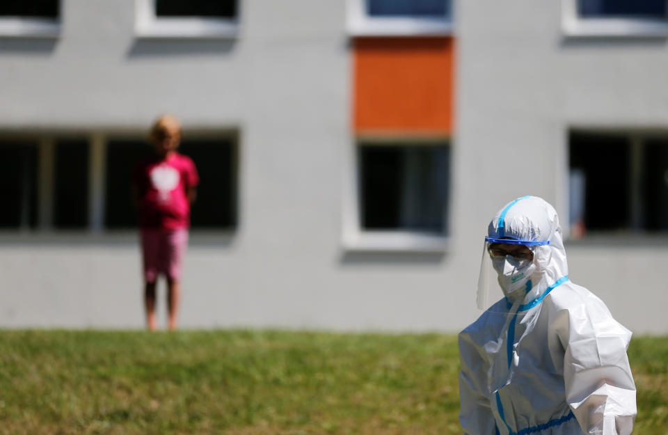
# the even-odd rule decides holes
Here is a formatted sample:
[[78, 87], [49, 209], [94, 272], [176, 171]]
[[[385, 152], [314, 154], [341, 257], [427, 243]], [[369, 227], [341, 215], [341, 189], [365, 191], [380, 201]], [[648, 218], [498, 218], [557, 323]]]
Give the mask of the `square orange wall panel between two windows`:
[[452, 134], [452, 38], [358, 38], [353, 62], [355, 132]]

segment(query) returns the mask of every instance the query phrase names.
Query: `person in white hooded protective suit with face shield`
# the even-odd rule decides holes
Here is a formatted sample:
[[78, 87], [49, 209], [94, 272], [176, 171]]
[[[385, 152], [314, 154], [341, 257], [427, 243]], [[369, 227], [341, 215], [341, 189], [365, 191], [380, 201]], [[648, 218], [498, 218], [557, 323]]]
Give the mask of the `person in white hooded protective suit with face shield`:
[[[488, 303], [496, 283], [495, 299], [504, 297]], [[489, 223], [477, 302], [485, 312], [459, 334], [465, 434], [631, 433], [631, 332], [568, 279], [557, 212], [545, 200], [518, 198]]]

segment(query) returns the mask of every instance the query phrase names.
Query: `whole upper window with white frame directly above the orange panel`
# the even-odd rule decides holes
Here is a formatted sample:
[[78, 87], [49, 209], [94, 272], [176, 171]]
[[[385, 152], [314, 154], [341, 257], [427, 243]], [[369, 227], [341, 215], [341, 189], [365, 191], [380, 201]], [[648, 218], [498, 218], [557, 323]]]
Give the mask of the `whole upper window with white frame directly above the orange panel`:
[[348, 0], [353, 35], [447, 35], [450, 0]]

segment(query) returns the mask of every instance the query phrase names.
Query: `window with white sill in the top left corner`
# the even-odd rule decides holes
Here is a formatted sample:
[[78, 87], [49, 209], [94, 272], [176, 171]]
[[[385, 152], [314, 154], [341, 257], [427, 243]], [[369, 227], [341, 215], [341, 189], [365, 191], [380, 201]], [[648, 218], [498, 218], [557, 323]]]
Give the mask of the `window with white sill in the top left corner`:
[[59, 0], [0, 1], [0, 36], [56, 37], [60, 9]]

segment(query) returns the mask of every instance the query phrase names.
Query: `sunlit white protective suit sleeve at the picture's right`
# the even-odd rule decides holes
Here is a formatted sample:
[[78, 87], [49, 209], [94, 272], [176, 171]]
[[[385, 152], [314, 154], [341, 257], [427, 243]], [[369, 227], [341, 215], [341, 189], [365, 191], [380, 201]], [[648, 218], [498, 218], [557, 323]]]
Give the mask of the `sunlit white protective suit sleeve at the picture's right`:
[[585, 434], [629, 435], [636, 416], [635, 383], [626, 349], [631, 332], [592, 296], [560, 322], [566, 400]]

